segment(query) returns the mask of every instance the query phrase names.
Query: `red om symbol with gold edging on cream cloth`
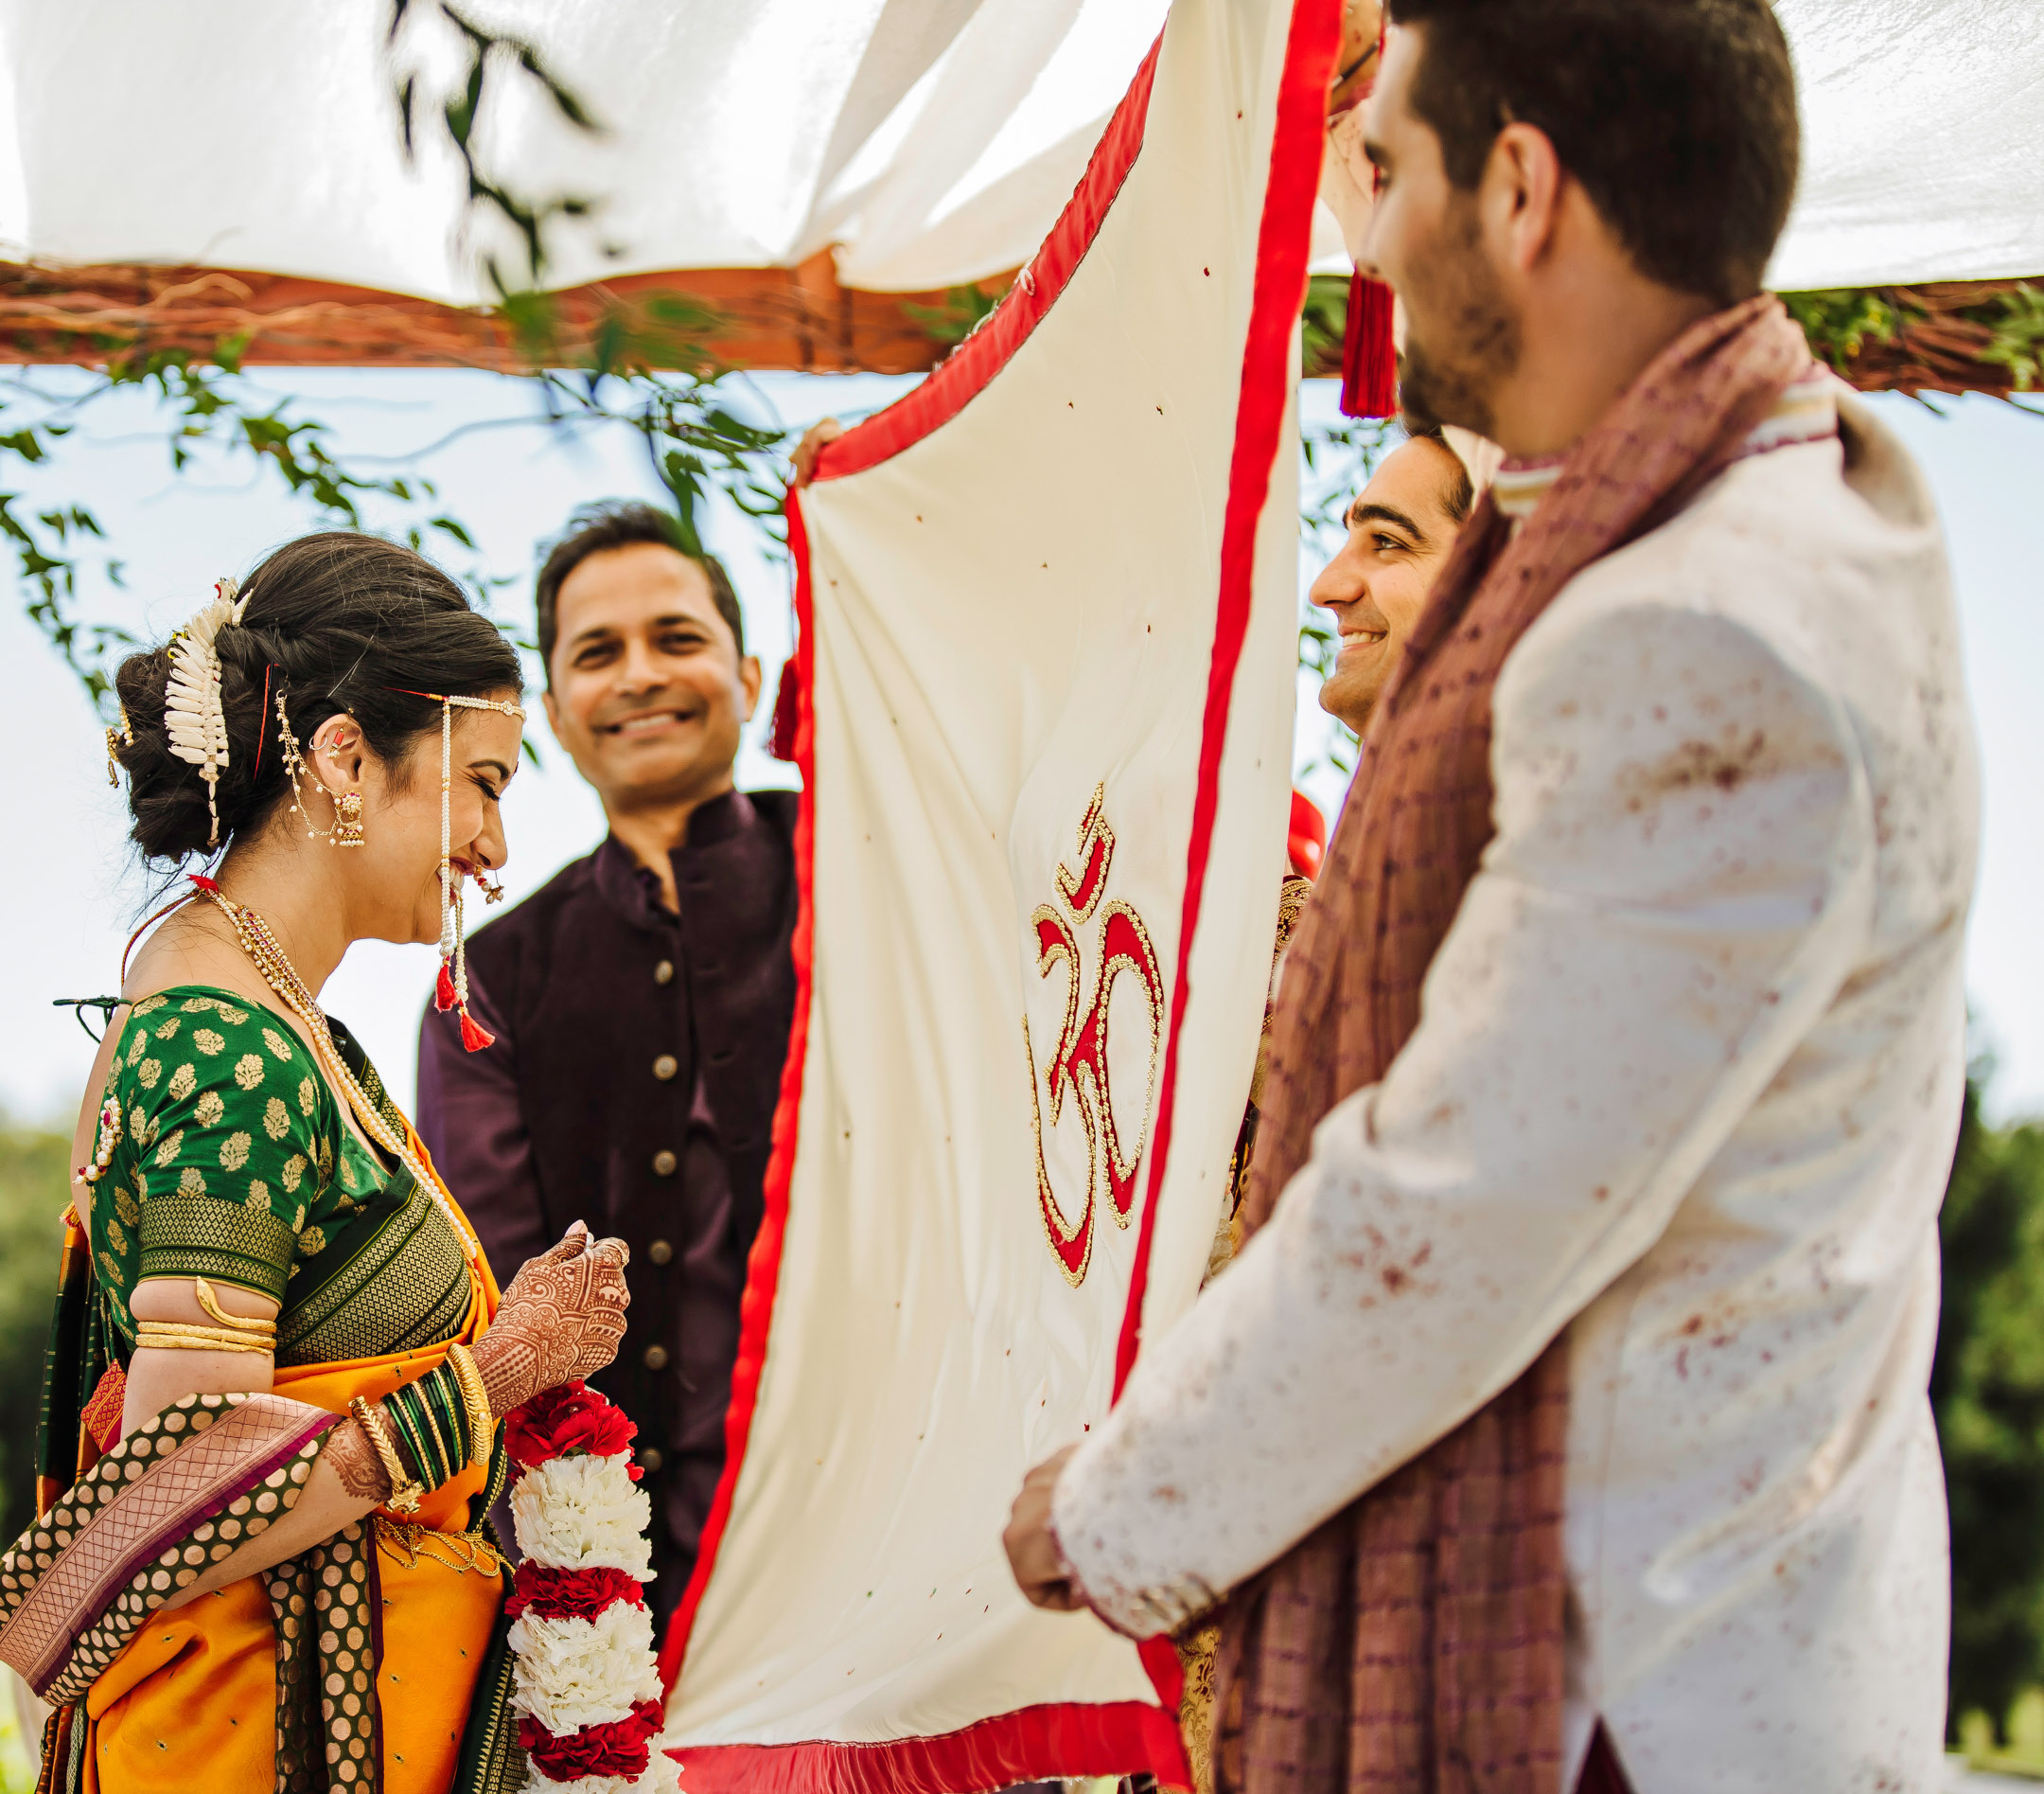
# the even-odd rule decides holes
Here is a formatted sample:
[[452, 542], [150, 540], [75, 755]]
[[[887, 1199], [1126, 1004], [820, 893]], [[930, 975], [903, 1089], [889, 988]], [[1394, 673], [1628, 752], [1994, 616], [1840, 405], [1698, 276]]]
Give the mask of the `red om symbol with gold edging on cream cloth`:
[[[1036, 1049], [1030, 1043], [1028, 1017], [1022, 1017], [1022, 1049], [1028, 1056], [1030, 1078], [1030, 1127], [1036, 1137], [1036, 1205], [1042, 1211], [1042, 1231], [1051, 1242], [1051, 1252], [1073, 1289], [1085, 1283], [1085, 1268], [1094, 1258], [1094, 1215], [1100, 1209], [1102, 1193], [1116, 1227], [1126, 1227], [1134, 1209], [1136, 1168], [1143, 1162], [1143, 1148], [1149, 1143], [1151, 1105], [1157, 1096], [1157, 1058], [1163, 1047], [1163, 972], [1157, 966], [1157, 949], [1151, 945], [1149, 929], [1143, 927], [1143, 918], [1130, 904], [1118, 898], [1104, 900], [1108, 869], [1114, 863], [1114, 831], [1106, 818], [1106, 786], [1094, 786], [1094, 802], [1079, 822], [1077, 871], [1059, 865], [1053, 878], [1057, 902], [1038, 904], [1030, 914], [1030, 929], [1036, 935], [1036, 972], [1051, 978], [1059, 966], [1065, 970], [1065, 1025], [1059, 1031], [1057, 1051], [1051, 1053], [1042, 1070], [1042, 1094], [1049, 1094], [1053, 1127], [1069, 1101], [1085, 1129], [1085, 1193], [1071, 1211], [1059, 1203], [1051, 1188], [1051, 1172], [1042, 1156], [1044, 1105], [1036, 1084]], [[1091, 998], [1081, 1002], [1087, 953], [1081, 947], [1079, 931], [1087, 929], [1096, 916], [1100, 927], [1091, 943], [1091, 957], [1098, 970], [1094, 972]], [[1149, 1017], [1149, 1072], [1134, 1141], [1126, 1150], [1108, 1074], [1108, 1000], [1114, 994], [1114, 982], [1124, 972], [1141, 986]], [[1067, 1213], [1073, 1219], [1067, 1219]]]

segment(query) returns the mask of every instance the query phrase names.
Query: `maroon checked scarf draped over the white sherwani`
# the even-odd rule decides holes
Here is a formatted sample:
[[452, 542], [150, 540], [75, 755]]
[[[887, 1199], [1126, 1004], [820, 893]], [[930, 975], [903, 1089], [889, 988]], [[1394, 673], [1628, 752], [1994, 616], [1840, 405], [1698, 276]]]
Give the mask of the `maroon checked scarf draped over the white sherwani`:
[[[1461, 532], [1369, 724], [1286, 959], [1245, 1221], [1312, 1127], [1378, 1082], [1492, 835], [1490, 693], [1576, 573], [1739, 454], [1809, 348], [1750, 299], [1676, 338], [1513, 534]], [[1453, 1266], [1443, 1266], [1453, 1274]], [[1243, 1585], [1222, 1616], [1216, 1782], [1239, 1794], [1558, 1794], [1566, 1338], [1502, 1395]]]

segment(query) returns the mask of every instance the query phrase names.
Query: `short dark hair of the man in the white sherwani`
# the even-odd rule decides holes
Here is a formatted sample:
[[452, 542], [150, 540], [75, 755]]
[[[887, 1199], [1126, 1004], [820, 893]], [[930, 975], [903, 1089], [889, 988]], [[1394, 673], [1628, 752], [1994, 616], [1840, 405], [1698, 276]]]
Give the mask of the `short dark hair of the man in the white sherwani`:
[[1478, 184], [1508, 123], [1547, 133], [1650, 280], [1731, 305], [1760, 290], [1801, 131], [1768, 0], [1392, 0], [1423, 27], [1412, 110], [1447, 178]]

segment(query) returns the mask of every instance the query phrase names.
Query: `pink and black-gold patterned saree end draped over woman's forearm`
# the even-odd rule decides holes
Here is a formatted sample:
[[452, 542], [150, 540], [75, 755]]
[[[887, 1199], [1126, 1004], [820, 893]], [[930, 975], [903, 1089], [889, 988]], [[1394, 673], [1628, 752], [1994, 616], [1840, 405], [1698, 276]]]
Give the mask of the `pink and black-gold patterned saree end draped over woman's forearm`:
[[288, 1514], [333, 1416], [186, 1395], [106, 1452], [0, 1559], [0, 1661], [55, 1706], [208, 1563]]

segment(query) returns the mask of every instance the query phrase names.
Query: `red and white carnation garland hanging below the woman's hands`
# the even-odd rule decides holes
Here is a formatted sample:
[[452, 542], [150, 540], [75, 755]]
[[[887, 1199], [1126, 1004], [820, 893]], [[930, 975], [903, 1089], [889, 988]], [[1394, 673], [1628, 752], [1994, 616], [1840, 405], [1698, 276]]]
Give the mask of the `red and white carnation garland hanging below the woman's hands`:
[[505, 1416], [517, 1465], [511, 1522], [523, 1553], [511, 1616], [511, 1704], [531, 1763], [525, 1794], [672, 1794], [681, 1774], [658, 1747], [660, 1671], [646, 1526], [632, 1463], [638, 1428], [580, 1383]]

